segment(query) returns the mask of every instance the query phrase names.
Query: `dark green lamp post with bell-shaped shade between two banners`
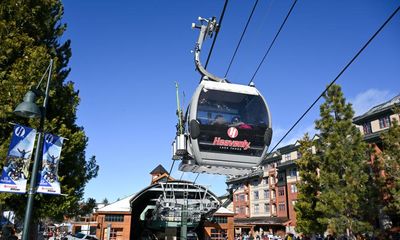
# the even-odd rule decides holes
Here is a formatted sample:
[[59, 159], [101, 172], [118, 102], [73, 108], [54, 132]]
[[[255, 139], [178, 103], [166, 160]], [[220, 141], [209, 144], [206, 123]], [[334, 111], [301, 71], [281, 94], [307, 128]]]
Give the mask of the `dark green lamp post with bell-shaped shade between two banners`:
[[[46, 107], [47, 107], [48, 96], [49, 96], [49, 86], [50, 86], [52, 67], [53, 67], [53, 60], [50, 60], [50, 64], [47, 67], [46, 72], [44, 73], [38, 86], [35, 89], [29, 90], [24, 96], [24, 101], [22, 103], [20, 103], [14, 110], [14, 113], [21, 117], [26, 117], [26, 118], [40, 117], [40, 124], [39, 124], [39, 128], [38, 128], [39, 136], [38, 136], [38, 141], [36, 144], [35, 158], [33, 161], [32, 176], [31, 176], [30, 186], [29, 186], [29, 190], [28, 190], [28, 201], [27, 201], [27, 205], [26, 205], [25, 218], [24, 218], [24, 228], [23, 228], [23, 235], [22, 235], [23, 240], [29, 240], [29, 228], [30, 228], [30, 222], [31, 222], [31, 218], [32, 218], [33, 201], [34, 201], [34, 196], [36, 193], [37, 172], [38, 172], [39, 165], [42, 162], [42, 158], [43, 158], [43, 156], [42, 156], [42, 154], [43, 154], [43, 127], [44, 127], [44, 120], [46, 117]], [[35, 100], [36, 100], [36, 97], [43, 96], [43, 93], [39, 90], [39, 87], [40, 87], [40, 84], [41, 84], [43, 78], [46, 76], [46, 73], [48, 73], [46, 90], [44, 93], [43, 106], [40, 108], [36, 105]]]

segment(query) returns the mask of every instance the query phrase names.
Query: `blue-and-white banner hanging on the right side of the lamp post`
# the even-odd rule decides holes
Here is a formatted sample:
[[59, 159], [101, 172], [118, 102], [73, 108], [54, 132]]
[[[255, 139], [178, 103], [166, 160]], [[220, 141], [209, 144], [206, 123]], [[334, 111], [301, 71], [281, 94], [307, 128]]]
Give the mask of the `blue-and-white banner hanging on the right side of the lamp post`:
[[64, 138], [46, 133], [43, 144], [43, 160], [38, 184], [38, 193], [61, 194], [58, 180], [58, 164]]

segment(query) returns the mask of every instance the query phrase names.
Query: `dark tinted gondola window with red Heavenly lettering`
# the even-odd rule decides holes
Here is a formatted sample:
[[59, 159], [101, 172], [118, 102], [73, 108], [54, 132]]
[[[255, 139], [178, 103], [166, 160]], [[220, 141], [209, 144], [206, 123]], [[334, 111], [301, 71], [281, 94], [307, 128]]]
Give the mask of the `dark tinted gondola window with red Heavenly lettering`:
[[200, 125], [201, 151], [262, 155], [269, 120], [261, 96], [203, 89], [196, 119]]

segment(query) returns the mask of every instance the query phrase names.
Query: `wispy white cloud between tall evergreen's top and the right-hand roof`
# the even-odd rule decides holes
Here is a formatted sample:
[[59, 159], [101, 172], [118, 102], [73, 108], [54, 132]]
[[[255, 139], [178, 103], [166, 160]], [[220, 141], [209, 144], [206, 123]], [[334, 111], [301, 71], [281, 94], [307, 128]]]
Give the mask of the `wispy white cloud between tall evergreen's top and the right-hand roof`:
[[365, 92], [357, 94], [355, 98], [349, 99], [353, 104], [355, 116], [367, 112], [373, 106], [384, 103], [395, 96], [389, 90], [368, 89]]

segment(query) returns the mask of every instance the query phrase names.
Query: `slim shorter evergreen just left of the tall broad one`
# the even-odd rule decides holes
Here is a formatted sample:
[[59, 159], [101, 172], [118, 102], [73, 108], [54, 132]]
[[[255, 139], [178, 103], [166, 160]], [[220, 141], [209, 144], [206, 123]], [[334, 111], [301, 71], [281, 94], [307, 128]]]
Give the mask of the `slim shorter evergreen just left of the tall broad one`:
[[301, 182], [298, 184], [296, 211], [296, 231], [306, 235], [324, 233], [326, 224], [318, 222], [322, 213], [316, 210], [320, 183], [318, 176], [319, 157], [315, 155], [314, 143], [308, 134], [300, 141], [299, 152], [301, 158], [297, 160], [297, 167]]

